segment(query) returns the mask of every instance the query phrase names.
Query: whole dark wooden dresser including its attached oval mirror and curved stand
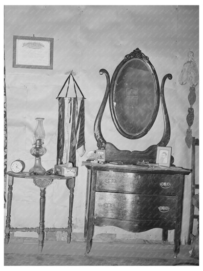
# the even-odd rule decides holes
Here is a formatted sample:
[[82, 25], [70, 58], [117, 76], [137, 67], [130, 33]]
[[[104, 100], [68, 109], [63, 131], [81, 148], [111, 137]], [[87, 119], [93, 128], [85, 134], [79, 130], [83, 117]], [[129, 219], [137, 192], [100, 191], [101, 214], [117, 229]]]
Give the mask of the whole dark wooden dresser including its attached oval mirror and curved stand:
[[[175, 229], [174, 257], [179, 252], [184, 175], [190, 171], [174, 167], [141, 167], [156, 163], [158, 146], [167, 146], [170, 140], [170, 122], [164, 99], [166, 74], [161, 90], [154, 66], [137, 48], [126, 55], [115, 69], [112, 79], [105, 69], [106, 90], [94, 124], [97, 146], [105, 150], [106, 164], [83, 163], [88, 168], [84, 236], [86, 254], [91, 248], [93, 227], [117, 226], [141, 232], [162, 228], [162, 239], [167, 230]], [[101, 130], [102, 115], [109, 98], [110, 113], [118, 132], [132, 140], [146, 135], [154, 124], [161, 101], [163, 134], [160, 142], [143, 151], [120, 150], [107, 142]], [[157, 131], [159, 132], [159, 131]], [[143, 161], [145, 163], [143, 163]], [[110, 163], [122, 163], [115, 166]], [[139, 165], [139, 166], [138, 166]]]

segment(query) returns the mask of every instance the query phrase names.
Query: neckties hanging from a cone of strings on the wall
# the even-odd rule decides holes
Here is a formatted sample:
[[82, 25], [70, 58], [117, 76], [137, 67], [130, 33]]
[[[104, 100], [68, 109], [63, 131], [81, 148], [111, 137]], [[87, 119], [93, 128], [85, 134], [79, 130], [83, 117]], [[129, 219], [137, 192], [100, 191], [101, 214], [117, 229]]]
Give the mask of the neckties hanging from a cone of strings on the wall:
[[[70, 79], [73, 81], [75, 97], [68, 97]], [[67, 83], [66, 94], [59, 97], [64, 86]], [[82, 97], [78, 97], [77, 89]], [[65, 80], [57, 99], [59, 100], [59, 119], [58, 119], [58, 140], [57, 140], [57, 165], [71, 162], [76, 167], [76, 150], [80, 156], [85, 153], [85, 137], [84, 137], [84, 95], [73, 77], [72, 72]], [[81, 101], [78, 112], [78, 101]], [[70, 126], [70, 127], [69, 127]], [[79, 128], [80, 127], [80, 128]], [[71, 134], [69, 137], [69, 128]], [[79, 134], [77, 136], [77, 133]], [[78, 137], [78, 139], [77, 139]]]

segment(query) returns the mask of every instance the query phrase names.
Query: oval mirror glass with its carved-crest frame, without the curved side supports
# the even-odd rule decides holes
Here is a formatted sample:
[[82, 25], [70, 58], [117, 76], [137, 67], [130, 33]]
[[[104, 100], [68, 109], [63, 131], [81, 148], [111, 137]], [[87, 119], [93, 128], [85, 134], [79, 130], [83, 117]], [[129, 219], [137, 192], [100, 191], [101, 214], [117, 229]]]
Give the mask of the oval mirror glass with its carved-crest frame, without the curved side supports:
[[139, 48], [117, 66], [110, 84], [109, 105], [117, 130], [126, 138], [144, 136], [159, 110], [156, 71]]

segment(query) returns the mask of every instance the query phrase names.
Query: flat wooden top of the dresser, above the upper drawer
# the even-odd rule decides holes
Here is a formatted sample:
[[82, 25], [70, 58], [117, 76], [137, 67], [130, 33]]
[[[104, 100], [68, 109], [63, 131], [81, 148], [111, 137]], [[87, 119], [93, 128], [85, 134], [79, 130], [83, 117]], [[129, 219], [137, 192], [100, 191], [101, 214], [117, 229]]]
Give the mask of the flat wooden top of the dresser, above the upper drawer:
[[115, 164], [99, 164], [99, 163], [92, 163], [88, 161], [83, 161], [82, 166], [87, 167], [88, 169], [95, 169], [95, 170], [112, 170], [112, 171], [119, 171], [119, 172], [135, 172], [135, 173], [146, 173], [146, 174], [182, 174], [182, 175], [189, 175], [190, 170], [184, 169], [182, 167], [148, 167], [148, 166], [137, 166], [137, 165], [115, 165]]

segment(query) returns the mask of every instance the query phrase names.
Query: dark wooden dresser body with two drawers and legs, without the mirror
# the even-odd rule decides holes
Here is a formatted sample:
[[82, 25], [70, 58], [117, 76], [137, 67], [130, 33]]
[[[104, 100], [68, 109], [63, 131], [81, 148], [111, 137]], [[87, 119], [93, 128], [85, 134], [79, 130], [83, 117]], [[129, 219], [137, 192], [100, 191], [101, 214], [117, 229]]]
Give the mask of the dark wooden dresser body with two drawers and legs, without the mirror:
[[131, 232], [161, 228], [162, 240], [175, 229], [174, 257], [180, 247], [184, 175], [180, 167], [94, 164], [88, 169], [84, 237], [91, 248], [94, 226], [116, 226]]

